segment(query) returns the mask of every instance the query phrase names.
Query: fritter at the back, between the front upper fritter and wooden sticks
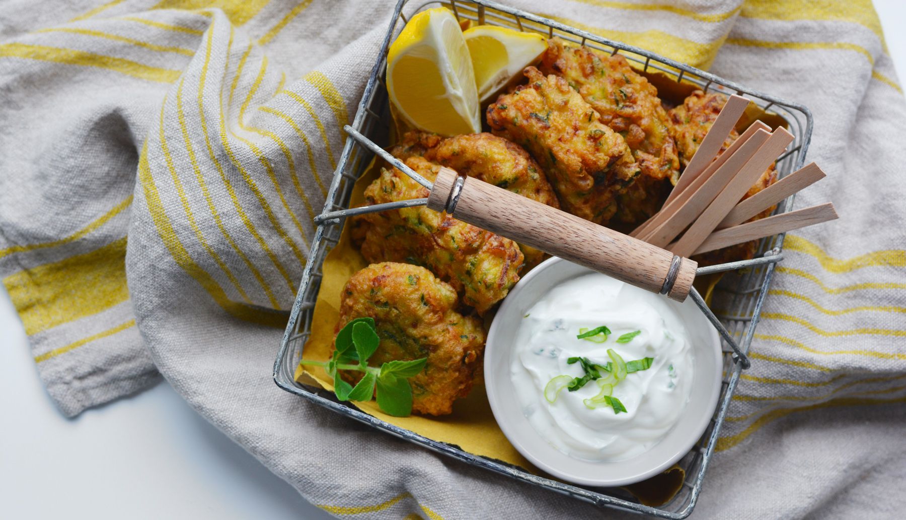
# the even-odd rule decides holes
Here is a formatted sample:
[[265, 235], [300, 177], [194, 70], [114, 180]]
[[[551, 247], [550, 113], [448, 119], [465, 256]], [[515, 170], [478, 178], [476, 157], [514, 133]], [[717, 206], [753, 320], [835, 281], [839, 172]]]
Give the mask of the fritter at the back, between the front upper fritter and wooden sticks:
[[563, 76], [601, 115], [601, 122], [626, 140], [641, 175], [619, 195], [614, 219], [625, 224], [647, 220], [679, 179], [670, 118], [657, 89], [621, 54], [568, 45], [558, 37], [547, 41], [540, 68], [544, 74]]

